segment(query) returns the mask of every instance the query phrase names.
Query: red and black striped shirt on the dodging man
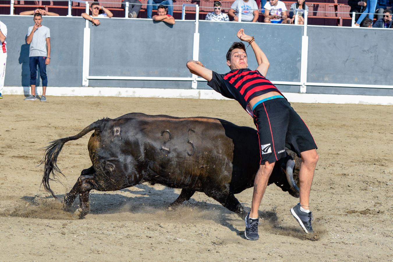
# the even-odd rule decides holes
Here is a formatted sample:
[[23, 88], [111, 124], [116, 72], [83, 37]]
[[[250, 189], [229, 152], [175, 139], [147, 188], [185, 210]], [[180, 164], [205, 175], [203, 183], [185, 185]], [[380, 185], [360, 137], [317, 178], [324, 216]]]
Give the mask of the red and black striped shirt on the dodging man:
[[281, 94], [277, 87], [258, 70], [252, 71], [249, 68], [235, 69], [226, 74], [213, 71], [213, 77], [208, 82], [208, 86], [224, 97], [238, 101], [244, 110], [251, 99], [258, 95], [272, 91]]

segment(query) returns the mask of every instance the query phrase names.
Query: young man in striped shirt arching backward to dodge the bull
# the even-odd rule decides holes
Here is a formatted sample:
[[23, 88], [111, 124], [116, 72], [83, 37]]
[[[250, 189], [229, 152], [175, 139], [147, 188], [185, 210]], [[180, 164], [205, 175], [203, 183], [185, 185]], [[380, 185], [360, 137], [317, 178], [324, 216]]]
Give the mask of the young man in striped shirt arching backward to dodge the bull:
[[246, 47], [242, 42], [234, 42], [226, 54], [226, 64], [231, 69], [228, 73], [218, 74], [195, 60], [188, 61], [187, 68], [191, 73], [206, 79], [208, 85], [215, 91], [237, 100], [253, 117], [257, 127], [261, 161], [255, 176], [251, 211], [245, 218], [244, 235], [248, 240], [259, 239], [259, 205], [275, 161], [286, 156], [285, 146], [289, 146], [302, 158], [299, 171], [300, 203], [290, 212], [298, 220], [305, 233], [312, 233], [309, 197], [318, 161], [316, 143], [307, 125], [290, 106], [290, 103], [274, 84], [265, 78], [270, 64], [254, 37], [246, 35], [243, 29], [237, 32], [237, 37], [251, 45], [258, 63], [256, 70], [252, 71], [247, 68]]

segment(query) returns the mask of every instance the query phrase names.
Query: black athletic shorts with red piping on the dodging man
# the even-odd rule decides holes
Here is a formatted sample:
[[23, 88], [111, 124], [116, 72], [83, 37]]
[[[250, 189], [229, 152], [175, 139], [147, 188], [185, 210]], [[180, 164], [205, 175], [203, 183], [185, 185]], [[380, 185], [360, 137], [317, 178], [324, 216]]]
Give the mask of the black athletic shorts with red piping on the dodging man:
[[285, 157], [285, 147], [299, 157], [301, 152], [317, 148], [309, 128], [285, 98], [265, 101], [254, 108], [253, 114], [261, 165]]

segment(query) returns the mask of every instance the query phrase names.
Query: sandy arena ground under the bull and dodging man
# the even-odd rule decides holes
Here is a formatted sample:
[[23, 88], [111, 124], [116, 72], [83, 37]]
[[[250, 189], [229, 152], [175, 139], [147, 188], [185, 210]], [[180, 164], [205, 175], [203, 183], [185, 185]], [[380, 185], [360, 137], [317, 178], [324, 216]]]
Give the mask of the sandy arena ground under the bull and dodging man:
[[[293, 103], [319, 146], [310, 202], [316, 234], [303, 235], [289, 212], [298, 200], [270, 185], [259, 209], [260, 239], [251, 242], [244, 239], [241, 218], [203, 193], [176, 211], [163, 209], [180, 190], [161, 185], [92, 191], [90, 214], [75, 220], [40, 187], [43, 167], [37, 167], [49, 141], [75, 135], [102, 117], [143, 112], [253, 126], [236, 101], [23, 98], [0, 100], [1, 261], [393, 259], [392, 106]], [[59, 167], [67, 179], [51, 183], [61, 198], [91, 165], [89, 137], [64, 145]], [[236, 197], [249, 209], [252, 189]]]

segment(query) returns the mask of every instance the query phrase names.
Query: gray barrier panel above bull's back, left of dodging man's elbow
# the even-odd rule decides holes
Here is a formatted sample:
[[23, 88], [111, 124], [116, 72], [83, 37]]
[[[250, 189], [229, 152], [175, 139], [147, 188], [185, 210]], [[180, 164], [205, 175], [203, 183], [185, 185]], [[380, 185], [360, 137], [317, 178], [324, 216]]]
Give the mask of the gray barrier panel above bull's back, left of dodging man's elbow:
[[[169, 25], [145, 19], [101, 19], [90, 24], [89, 75], [191, 77], [195, 22]], [[89, 86], [191, 88], [191, 81], [89, 80]]]

